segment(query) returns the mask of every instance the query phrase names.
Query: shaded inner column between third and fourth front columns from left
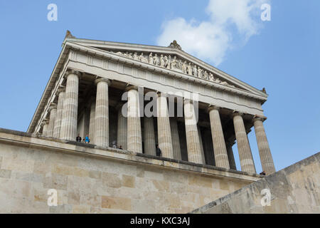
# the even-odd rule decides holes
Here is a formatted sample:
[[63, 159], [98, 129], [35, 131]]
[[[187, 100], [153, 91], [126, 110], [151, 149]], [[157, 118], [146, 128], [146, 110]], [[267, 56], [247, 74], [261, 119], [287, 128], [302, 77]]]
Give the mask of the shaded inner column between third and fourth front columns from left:
[[144, 153], [147, 155], [156, 155], [153, 117], [144, 117]]

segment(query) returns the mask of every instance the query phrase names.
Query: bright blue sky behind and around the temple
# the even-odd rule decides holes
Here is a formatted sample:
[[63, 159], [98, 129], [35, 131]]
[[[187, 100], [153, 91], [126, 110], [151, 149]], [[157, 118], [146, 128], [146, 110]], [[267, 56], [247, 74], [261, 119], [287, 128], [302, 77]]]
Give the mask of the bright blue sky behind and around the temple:
[[[183, 39], [171, 32], [174, 25], [207, 42], [203, 51], [181, 41], [183, 50], [255, 88], [266, 88], [270, 96], [262, 107], [277, 170], [313, 155], [320, 151], [320, 1], [265, 2], [271, 5], [271, 21], [261, 21], [260, 13], [253, 12], [252, 21], [237, 24], [235, 14], [223, 21], [229, 10], [217, 17], [223, 8], [210, 8], [209, 1], [0, 0], [0, 128], [26, 131], [67, 29], [78, 38], [158, 45]], [[58, 6], [58, 21], [47, 20], [50, 3]], [[181, 24], [174, 24], [178, 19]], [[221, 28], [218, 35], [230, 41], [210, 39], [200, 29], [202, 23]], [[207, 45], [213, 51], [206, 52]], [[253, 128], [249, 140], [261, 172]], [[240, 169], [238, 150], [233, 150]]]

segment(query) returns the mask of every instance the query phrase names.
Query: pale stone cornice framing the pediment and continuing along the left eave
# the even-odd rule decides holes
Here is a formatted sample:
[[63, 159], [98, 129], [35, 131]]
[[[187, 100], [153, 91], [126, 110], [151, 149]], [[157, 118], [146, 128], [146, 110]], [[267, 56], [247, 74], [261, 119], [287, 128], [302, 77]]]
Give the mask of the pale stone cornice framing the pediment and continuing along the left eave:
[[[80, 44], [81, 43], [81, 44]], [[92, 47], [92, 44], [95, 44], [96, 47]], [[178, 56], [181, 56], [182, 58], [186, 58], [188, 61], [192, 61], [198, 66], [201, 66], [203, 68], [208, 69], [208, 71], [213, 71], [215, 74], [220, 76], [221, 78], [225, 79], [226, 81], [230, 81], [231, 83], [234, 83], [235, 85], [242, 86], [243, 88], [249, 90], [241, 90], [239, 88], [230, 88], [228, 86], [223, 86], [218, 83], [208, 82], [206, 80], [203, 80], [202, 78], [196, 78], [193, 76], [187, 76], [183, 73], [178, 73], [176, 71], [172, 71], [169, 69], [164, 69], [158, 66], [149, 65], [147, 63], [142, 63], [140, 61], [135, 61], [132, 59], [124, 58], [122, 56], [118, 56], [115, 53], [110, 53], [108, 51], [104, 51], [100, 48], [118, 48], [123, 50], [132, 50], [132, 51], [154, 51], [154, 52], [166, 52], [171, 54], [176, 54]], [[149, 69], [152, 71], [155, 71], [157, 73], [164, 73], [166, 75], [171, 75], [176, 78], [183, 78], [187, 81], [196, 82], [199, 84], [202, 84], [203, 86], [208, 85], [212, 86], [213, 88], [217, 88], [218, 90], [225, 90], [230, 93], [236, 93], [239, 95], [245, 95], [251, 98], [255, 98], [257, 100], [260, 100], [262, 103], [264, 103], [267, 100], [267, 95], [265, 93], [262, 93], [260, 90], [257, 90], [257, 88], [253, 88], [252, 86], [248, 85], [247, 83], [244, 83], [238, 78], [234, 78], [233, 76], [228, 75], [227, 73], [224, 73], [223, 71], [218, 70], [217, 68], [214, 68], [213, 66], [210, 66], [208, 63], [205, 63], [198, 58], [189, 55], [188, 53], [178, 50], [176, 48], [169, 48], [169, 47], [161, 47], [161, 46], [148, 46], [148, 45], [141, 45], [141, 44], [132, 44], [132, 43], [117, 43], [117, 42], [110, 42], [110, 41], [92, 41], [87, 39], [79, 39], [79, 38], [70, 38], [66, 37], [65, 41], [63, 41], [63, 48], [60, 52], [60, 56], [58, 57], [58, 61], [55, 63], [55, 67], [53, 68], [53, 71], [51, 73], [51, 76], [49, 78], [49, 81], [46, 85], [46, 88], [43, 92], [43, 95], [41, 96], [41, 100], [38, 103], [38, 106], [36, 108], [36, 111], [33, 115], [33, 118], [31, 120], [30, 125], [28, 126], [28, 133], [33, 133], [33, 131], [36, 128], [36, 125], [38, 125], [38, 121], [40, 120], [41, 113], [46, 112], [46, 108], [48, 108], [48, 99], [50, 98], [52, 90], [55, 88], [55, 82], [57, 80], [60, 80], [61, 71], [64, 67], [66, 59], [68, 59], [68, 53], [70, 51], [70, 48], [74, 49], [75, 51], [81, 51], [84, 53], [88, 53], [92, 56], [99, 56], [102, 58], [109, 58], [113, 61], [119, 61], [122, 63], [127, 63], [129, 65], [132, 65], [134, 67], [141, 67], [144, 69]], [[138, 49], [138, 50], [137, 50]]]

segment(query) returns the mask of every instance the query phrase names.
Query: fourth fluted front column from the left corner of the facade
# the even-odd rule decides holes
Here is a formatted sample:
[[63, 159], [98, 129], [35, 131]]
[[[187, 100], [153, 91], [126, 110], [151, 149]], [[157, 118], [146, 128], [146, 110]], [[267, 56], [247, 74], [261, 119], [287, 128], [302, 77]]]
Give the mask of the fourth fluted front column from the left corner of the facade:
[[172, 145], [170, 119], [166, 95], [158, 93], [156, 99], [157, 124], [158, 124], [158, 143], [162, 152], [162, 157], [174, 158], [174, 147]]

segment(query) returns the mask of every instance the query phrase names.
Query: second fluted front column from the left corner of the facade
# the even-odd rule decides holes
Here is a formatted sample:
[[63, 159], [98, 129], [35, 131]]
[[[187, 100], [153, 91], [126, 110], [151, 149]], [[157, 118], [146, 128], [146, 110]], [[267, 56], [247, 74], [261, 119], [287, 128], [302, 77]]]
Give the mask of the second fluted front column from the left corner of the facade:
[[95, 100], [95, 145], [109, 146], [109, 86], [110, 80], [98, 78]]

